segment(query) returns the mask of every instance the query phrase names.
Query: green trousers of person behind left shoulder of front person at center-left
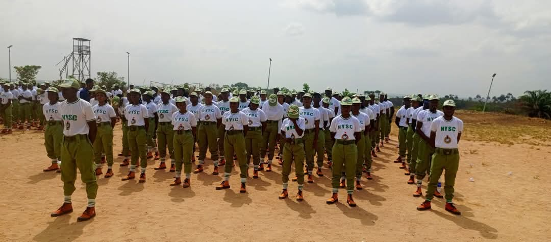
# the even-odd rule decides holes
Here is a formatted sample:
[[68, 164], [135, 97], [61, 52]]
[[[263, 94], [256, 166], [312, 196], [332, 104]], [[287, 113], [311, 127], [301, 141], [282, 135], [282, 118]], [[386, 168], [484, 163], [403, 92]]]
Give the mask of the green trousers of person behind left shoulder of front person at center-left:
[[[217, 161], [218, 127], [216, 126], [216, 122], [201, 122], [201, 126], [199, 126], [197, 136], [199, 138], [199, 163], [204, 164], [204, 160], [207, 157], [207, 147], [210, 152], [210, 159]], [[228, 157], [228, 159], [230, 159], [230, 157]]]

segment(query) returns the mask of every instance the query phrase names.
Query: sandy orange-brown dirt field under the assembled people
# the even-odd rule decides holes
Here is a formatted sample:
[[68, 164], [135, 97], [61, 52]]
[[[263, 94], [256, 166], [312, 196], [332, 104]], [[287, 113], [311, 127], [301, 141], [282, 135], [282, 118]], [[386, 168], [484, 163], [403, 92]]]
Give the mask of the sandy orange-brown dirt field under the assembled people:
[[[328, 169], [323, 170], [323, 178], [315, 176], [314, 184], [305, 184], [305, 201], [296, 202], [294, 182], [289, 184], [290, 199], [277, 198], [282, 189], [277, 163], [271, 173], [261, 171], [260, 179], [250, 178], [247, 193], [241, 194], [235, 171], [231, 189], [215, 191], [222, 175], [208, 175], [209, 161], [206, 173], [192, 174], [191, 189], [182, 189], [170, 187], [173, 174], [153, 170], [153, 160], [148, 163], [145, 184], [137, 179], [121, 181], [128, 168], [119, 168], [122, 158], [116, 158], [115, 176], [98, 179], [97, 216], [77, 223], [87, 205], [82, 182], [77, 181], [73, 194], [74, 212], [51, 218], [50, 212], [63, 202], [60, 174], [42, 172], [50, 163], [42, 132], [15, 131], [0, 136], [4, 157], [0, 166], [7, 171], [0, 179], [5, 192], [0, 197], [0, 240], [551, 241], [551, 175], [546, 170], [551, 162], [549, 122], [511, 121], [505, 115], [471, 112], [458, 116], [466, 127], [455, 198], [462, 216], [446, 212], [445, 200], [439, 198], [433, 200], [431, 211], [415, 209], [423, 198], [412, 197], [415, 185], [408, 185], [408, 176], [392, 163], [397, 155], [393, 127], [391, 143], [374, 158], [374, 180], [364, 178], [364, 190], [354, 192], [356, 208], [346, 205], [343, 189], [341, 201], [326, 205], [331, 195]], [[527, 133], [516, 136], [520, 137], [516, 141], [495, 139], [500, 134], [515, 137], [519, 126], [518, 132]], [[487, 138], [476, 135], [487, 129], [502, 133], [487, 132], [483, 135]], [[117, 125], [116, 153], [121, 150], [120, 139]]]

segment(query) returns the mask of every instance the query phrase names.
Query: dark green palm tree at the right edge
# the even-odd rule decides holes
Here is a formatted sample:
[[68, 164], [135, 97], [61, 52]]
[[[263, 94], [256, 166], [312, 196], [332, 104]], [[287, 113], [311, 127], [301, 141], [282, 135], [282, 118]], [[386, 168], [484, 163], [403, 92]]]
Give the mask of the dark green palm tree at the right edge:
[[551, 119], [551, 93], [547, 90], [526, 91], [520, 100], [529, 116]]

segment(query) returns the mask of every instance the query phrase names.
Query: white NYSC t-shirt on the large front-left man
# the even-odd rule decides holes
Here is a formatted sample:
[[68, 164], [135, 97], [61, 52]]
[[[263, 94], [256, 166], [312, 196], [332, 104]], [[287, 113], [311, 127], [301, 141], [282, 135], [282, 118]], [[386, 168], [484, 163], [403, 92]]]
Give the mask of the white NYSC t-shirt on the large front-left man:
[[74, 103], [63, 101], [59, 105], [59, 111], [64, 123], [64, 136], [88, 135], [90, 127], [87, 122], [96, 119], [92, 105], [80, 98]]

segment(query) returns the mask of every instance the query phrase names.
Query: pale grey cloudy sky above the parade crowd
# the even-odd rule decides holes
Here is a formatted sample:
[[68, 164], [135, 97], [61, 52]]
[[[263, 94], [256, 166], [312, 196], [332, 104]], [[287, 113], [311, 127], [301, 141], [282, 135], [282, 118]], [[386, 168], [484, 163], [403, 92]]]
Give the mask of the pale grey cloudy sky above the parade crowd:
[[[56, 79], [72, 37], [131, 82], [485, 94], [551, 89], [551, 1], [0, 1], [0, 77]], [[12, 77], [15, 75], [12, 74]], [[93, 74], [95, 77], [95, 74]]]

